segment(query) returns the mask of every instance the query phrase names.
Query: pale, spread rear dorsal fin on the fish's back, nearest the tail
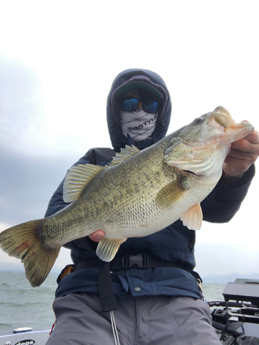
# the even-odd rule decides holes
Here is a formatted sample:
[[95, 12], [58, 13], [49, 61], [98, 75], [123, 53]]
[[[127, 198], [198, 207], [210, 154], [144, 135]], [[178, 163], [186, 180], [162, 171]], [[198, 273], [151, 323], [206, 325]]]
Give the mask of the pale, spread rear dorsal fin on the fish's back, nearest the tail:
[[72, 202], [79, 199], [85, 186], [104, 169], [104, 166], [95, 166], [94, 164], [79, 164], [70, 168], [64, 181], [64, 201]]

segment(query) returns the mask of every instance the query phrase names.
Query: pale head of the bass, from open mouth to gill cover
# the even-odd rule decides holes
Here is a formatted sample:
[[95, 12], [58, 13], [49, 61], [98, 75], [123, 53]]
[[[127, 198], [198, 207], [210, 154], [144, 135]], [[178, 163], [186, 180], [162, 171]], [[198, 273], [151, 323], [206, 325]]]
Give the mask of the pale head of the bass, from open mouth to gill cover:
[[252, 130], [248, 121], [236, 123], [220, 106], [195, 119], [173, 137], [164, 151], [163, 161], [182, 175], [198, 177], [218, 173], [218, 166], [227, 157], [233, 141], [246, 137]]

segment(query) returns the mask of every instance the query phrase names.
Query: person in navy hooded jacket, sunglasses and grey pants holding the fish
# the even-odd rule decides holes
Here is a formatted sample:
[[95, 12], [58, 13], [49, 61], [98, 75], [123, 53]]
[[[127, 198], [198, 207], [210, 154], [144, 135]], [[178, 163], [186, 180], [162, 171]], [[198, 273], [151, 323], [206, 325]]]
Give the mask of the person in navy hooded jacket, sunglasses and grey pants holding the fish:
[[[162, 78], [149, 70], [125, 70], [108, 95], [113, 149], [92, 148], [75, 165], [105, 166], [125, 145], [142, 150], [155, 144], [165, 137], [170, 117], [171, 99]], [[258, 155], [258, 132], [233, 144], [221, 180], [202, 201], [204, 220], [221, 223], [235, 215]], [[61, 182], [46, 216], [66, 205]], [[153, 235], [127, 239], [111, 264], [95, 254], [95, 242], [103, 236], [97, 230], [66, 244], [75, 266], [59, 276], [53, 304], [57, 322], [48, 345], [220, 344], [193, 272], [195, 231], [178, 220]]]

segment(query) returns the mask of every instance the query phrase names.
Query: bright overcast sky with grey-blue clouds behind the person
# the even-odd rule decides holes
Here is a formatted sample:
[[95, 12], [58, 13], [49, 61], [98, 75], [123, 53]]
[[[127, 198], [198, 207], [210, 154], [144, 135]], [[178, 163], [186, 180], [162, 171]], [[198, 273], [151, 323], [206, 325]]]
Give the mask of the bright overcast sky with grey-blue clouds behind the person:
[[[166, 82], [169, 132], [219, 105], [259, 129], [257, 0], [0, 0], [0, 231], [44, 217], [66, 171], [111, 147], [106, 98], [116, 75]], [[256, 163], [258, 166], [258, 163]], [[200, 275], [259, 273], [259, 175], [228, 224], [196, 232]], [[19, 261], [0, 251], [0, 265]], [[56, 268], [70, 264], [62, 249]]]

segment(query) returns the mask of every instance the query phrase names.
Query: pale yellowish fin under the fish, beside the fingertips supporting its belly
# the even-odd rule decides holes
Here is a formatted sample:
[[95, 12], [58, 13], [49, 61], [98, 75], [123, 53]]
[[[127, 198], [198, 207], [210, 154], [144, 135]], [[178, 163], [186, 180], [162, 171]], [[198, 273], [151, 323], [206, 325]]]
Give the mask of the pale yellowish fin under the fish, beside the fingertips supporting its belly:
[[119, 246], [126, 241], [125, 239], [101, 239], [98, 243], [96, 255], [99, 259], [110, 262], [116, 255]]

